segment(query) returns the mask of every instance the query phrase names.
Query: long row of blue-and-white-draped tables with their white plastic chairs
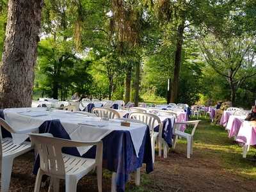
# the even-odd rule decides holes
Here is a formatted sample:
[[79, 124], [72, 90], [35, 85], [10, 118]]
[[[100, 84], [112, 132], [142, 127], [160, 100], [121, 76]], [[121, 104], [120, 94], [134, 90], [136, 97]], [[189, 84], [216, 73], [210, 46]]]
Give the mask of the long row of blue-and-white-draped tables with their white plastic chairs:
[[[86, 98], [68, 104], [46, 98], [37, 104], [36, 108], [0, 110], [1, 192], [8, 191], [13, 159], [33, 148], [35, 191], [40, 189], [42, 175], [51, 177], [56, 191], [60, 179], [65, 179], [66, 191], [76, 191], [78, 180], [95, 168], [102, 191], [102, 167], [113, 172], [111, 191], [125, 191], [132, 172], [136, 185], [140, 184], [143, 163], [147, 173], [153, 171], [155, 147], [159, 148], [159, 157], [163, 149], [166, 158], [178, 137], [184, 137], [188, 141], [187, 157], [193, 152], [193, 134], [199, 120], [188, 121], [186, 104], [124, 108], [120, 100]], [[184, 132], [187, 125], [194, 126], [191, 134]]]

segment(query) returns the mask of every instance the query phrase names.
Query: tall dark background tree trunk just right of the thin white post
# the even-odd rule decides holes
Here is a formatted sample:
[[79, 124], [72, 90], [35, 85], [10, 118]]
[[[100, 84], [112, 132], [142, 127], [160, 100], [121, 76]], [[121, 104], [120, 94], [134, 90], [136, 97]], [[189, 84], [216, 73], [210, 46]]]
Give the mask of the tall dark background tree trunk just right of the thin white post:
[[177, 43], [176, 43], [173, 81], [172, 81], [172, 90], [171, 90], [171, 98], [170, 98], [170, 102], [174, 102], [174, 103], [177, 102], [177, 96], [178, 96], [184, 26], [185, 26], [185, 20], [183, 20], [182, 23], [179, 24], [178, 31], [177, 31]]

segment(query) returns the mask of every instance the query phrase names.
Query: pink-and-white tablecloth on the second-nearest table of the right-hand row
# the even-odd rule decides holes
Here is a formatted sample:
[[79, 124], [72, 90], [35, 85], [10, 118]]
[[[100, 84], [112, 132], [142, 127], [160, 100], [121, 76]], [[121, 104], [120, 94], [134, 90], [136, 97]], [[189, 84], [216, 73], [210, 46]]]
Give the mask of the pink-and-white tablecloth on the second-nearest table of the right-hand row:
[[237, 136], [243, 121], [244, 121], [244, 118], [242, 116], [230, 115], [228, 122], [227, 122], [227, 127], [226, 127], [226, 130], [229, 131], [228, 132], [229, 138]]

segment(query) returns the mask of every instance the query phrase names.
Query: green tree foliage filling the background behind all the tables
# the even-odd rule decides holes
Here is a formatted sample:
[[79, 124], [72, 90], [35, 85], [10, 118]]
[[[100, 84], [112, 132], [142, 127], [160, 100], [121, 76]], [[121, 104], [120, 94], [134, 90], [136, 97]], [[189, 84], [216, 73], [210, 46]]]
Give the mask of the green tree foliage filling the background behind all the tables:
[[[131, 69], [131, 100], [139, 81], [140, 100], [166, 102], [177, 29], [185, 19], [178, 102], [230, 100], [230, 83], [220, 73], [228, 74], [244, 54], [234, 76], [236, 103], [250, 106], [256, 98], [255, 7], [253, 0], [45, 0], [34, 95], [124, 99]], [[6, 16], [7, 1], [0, 0], [0, 53]]]

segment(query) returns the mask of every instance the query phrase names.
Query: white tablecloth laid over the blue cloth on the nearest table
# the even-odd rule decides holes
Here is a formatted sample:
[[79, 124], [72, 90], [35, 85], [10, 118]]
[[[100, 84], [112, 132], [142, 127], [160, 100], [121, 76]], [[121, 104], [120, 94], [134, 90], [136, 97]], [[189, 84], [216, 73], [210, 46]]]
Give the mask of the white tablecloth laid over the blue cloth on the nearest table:
[[[112, 131], [129, 131], [137, 156], [147, 129], [145, 124], [131, 123], [131, 127], [124, 127], [120, 125], [120, 120], [103, 121], [98, 117], [61, 110], [46, 111], [45, 108], [4, 109], [4, 118], [14, 130], [40, 127], [46, 120], [58, 119], [70, 138], [76, 141], [101, 140]], [[13, 135], [15, 143], [22, 143], [27, 138], [26, 134]], [[83, 155], [90, 147], [77, 149]]]

